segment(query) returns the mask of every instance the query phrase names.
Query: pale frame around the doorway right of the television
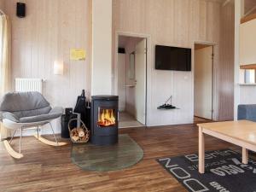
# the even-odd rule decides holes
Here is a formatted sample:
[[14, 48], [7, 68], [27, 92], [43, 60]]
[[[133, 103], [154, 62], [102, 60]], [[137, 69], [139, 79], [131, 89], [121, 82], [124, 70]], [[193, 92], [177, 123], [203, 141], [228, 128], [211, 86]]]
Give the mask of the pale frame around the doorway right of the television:
[[[208, 41], [195, 41], [193, 45], [193, 65], [192, 65], [192, 70], [193, 70], [193, 101], [195, 97], [195, 44], [204, 44], [207, 46], [212, 46], [213, 49], [213, 62], [212, 62], [212, 120], [217, 120], [218, 119], [218, 84], [217, 84], [217, 59], [216, 59], [216, 53], [217, 53], [217, 43], [214, 42], [208, 42]], [[193, 102], [193, 115], [195, 113], [195, 102]]]

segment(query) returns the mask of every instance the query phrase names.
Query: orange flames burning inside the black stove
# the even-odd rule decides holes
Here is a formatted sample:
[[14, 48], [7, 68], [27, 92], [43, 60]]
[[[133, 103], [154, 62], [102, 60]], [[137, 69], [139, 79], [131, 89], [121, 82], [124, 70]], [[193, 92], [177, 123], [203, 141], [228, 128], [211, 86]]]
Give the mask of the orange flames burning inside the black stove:
[[100, 126], [115, 125], [113, 109], [102, 109], [101, 114], [99, 115], [98, 125]]

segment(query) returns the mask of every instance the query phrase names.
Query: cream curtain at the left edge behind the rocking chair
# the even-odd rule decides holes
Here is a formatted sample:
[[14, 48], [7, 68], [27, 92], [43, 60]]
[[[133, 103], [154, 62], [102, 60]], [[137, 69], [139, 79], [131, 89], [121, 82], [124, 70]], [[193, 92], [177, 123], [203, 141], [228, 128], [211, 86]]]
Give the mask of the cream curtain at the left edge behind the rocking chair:
[[[7, 15], [0, 16], [0, 102], [11, 87], [10, 67], [10, 23]], [[10, 131], [0, 124], [0, 139], [10, 136]]]

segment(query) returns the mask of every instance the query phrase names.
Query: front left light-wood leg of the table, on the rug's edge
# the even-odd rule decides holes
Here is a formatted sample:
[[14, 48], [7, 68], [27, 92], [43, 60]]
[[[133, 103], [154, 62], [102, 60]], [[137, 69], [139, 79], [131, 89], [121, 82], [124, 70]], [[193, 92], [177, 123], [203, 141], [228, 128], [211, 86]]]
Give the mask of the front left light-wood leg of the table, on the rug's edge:
[[205, 173], [205, 137], [202, 128], [199, 127], [199, 152], [198, 152], [198, 170]]

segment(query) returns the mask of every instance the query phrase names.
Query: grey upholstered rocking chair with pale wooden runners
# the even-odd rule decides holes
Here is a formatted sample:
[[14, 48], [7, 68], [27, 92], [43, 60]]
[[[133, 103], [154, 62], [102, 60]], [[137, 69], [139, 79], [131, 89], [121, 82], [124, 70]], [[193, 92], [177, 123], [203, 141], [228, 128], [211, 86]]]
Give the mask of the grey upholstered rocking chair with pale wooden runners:
[[[39, 92], [15, 92], [8, 93], [3, 96], [3, 102], [0, 105], [0, 120], [3, 121], [4, 127], [14, 130], [14, 134], [9, 142], [7, 140], [3, 141], [8, 153], [16, 159], [23, 157], [23, 154], [21, 154], [21, 139], [22, 131], [25, 129], [36, 128], [38, 134], [35, 135], [35, 137], [43, 143], [52, 146], [67, 144], [57, 141], [55, 132], [51, 125], [51, 121], [59, 118], [62, 113], [63, 109], [60, 107], [51, 108], [49, 106], [49, 102], [47, 102], [44, 96]], [[50, 129], [55, 137], [55, 142], [51, 142], [44, 137], [39, 136], [39, 127], [46, 124], [50, 125]], [[15, 152], [15, 150], [10, 146], [17, 130], [20, 130], [19, 153]]]

